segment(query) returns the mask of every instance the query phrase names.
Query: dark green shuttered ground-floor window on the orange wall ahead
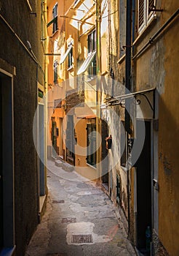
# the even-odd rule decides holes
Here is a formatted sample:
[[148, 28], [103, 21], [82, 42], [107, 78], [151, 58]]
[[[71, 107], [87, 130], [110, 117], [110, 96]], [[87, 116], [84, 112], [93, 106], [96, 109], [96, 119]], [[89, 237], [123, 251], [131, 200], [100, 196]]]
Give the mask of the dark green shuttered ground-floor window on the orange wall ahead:
[[87, 124], [87, 163], [96, 165], [96, 125]]

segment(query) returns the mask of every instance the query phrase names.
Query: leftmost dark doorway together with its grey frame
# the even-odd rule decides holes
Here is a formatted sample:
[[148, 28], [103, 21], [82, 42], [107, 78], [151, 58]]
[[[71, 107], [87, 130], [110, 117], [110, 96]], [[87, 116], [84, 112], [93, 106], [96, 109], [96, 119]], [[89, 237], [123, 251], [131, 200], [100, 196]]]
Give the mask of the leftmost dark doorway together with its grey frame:
[[[15, 250], [15, 164], [14, 164], [14, 113], [13, 78], [0, 68], [2, 100], [2, 182], [3, 182], [3, 250], [9, 255]], [[5, 86], [3, 85], [3, 80]], [[3, 110], [3, 106], [6, 110]], [[6, 118], [4, 118], [6, 116]]]

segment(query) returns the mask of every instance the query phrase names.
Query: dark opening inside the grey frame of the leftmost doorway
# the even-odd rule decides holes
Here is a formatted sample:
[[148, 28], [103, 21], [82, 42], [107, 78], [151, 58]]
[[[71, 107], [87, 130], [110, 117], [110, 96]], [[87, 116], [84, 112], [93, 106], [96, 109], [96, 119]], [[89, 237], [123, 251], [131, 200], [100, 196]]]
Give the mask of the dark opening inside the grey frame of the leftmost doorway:
[[14, 246], [12, 77], [0, 72], [0, 250]]

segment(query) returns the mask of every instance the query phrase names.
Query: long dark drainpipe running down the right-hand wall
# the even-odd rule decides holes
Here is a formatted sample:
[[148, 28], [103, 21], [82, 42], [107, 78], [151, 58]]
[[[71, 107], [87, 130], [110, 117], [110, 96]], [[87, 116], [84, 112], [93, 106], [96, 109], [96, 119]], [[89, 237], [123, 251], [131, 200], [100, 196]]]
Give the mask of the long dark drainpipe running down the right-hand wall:
[[[131, 89], [131, 24], [132, 24], [132, 1], [127, 0], [126, 9], [126, 62], [125, 62], [125, 93]], [[130, 99], [125, 100], [125, 129], [126, 129], [126, 148], [127, 148], [127, 203], [128, 203], [128, 236], [130, 235], [130, 165], [128, 162], [128, 140], [131, 133], [130, 129]], [[127, 111], [128, 110], [128, 111]]]

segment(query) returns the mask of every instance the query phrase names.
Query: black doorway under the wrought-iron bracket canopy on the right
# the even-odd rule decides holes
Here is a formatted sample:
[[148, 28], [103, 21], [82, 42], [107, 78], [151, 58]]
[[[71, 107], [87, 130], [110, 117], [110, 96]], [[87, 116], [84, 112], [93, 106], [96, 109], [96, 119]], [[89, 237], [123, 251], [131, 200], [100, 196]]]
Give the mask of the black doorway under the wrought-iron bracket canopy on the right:
[[[137, 140], [143, 121], [137, 121]], [[144, 255], [146, 251], [146, 229], [151, 228], [151, 122], [145, 121], [146, 136], [137, 167], [137, 247]]]

